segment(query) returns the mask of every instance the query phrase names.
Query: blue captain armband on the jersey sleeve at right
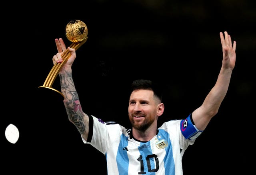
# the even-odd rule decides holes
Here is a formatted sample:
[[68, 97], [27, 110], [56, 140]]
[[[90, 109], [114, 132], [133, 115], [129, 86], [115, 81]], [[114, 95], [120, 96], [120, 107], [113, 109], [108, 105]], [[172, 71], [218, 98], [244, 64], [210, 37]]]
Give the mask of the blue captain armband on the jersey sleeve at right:
[[194, 125], [192, 121], [192, 114], [190, 114], [186, 119], [181, 120], [180, 122], [180, 130], [182, 135], [189, 140], [195, 140], [203, 131], [200, 131]]

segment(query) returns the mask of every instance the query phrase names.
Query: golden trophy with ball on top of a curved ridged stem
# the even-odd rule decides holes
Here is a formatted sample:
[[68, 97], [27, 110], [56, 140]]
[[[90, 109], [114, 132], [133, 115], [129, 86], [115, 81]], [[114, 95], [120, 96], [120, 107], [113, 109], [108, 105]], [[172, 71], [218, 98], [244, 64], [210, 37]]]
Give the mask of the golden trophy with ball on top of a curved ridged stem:
[[[87, 26], [84, 22], [80, 20], [72, 20], [68, 22], [68, 24], [66, 25], [66, 37], [68, 38], [69, 41], [72, 42], [72, 44], [69, 47], [75, 50], [77, 50], [81, 45], [83, 45], [87, 41], [87, 38], [88, 38], [87, 35], [88, 35]], [[63, 61], [61, 63], [54, 64], [46, 80], [44, 81], [44, 85], [38, 88], [49, 88], [51, 90], [54, 90], [60, 93], [64, 97], [64, 95], [60, 91], [52, 88], [52, 85], [60, 69], [68, 61], [70, 56], [71, 56], [70, 51], [66, 49], [61, 55]]]

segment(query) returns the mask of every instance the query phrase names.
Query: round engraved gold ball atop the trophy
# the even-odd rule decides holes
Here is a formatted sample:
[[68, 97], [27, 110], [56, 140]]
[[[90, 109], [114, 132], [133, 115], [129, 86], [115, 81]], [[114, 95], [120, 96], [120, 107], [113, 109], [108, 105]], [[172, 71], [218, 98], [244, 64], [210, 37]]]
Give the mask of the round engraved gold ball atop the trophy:
[[83, 41], [87, 35], [87, 26], [80, 20], [72, 20], [66, 25], [66, 37], [73, 43]]

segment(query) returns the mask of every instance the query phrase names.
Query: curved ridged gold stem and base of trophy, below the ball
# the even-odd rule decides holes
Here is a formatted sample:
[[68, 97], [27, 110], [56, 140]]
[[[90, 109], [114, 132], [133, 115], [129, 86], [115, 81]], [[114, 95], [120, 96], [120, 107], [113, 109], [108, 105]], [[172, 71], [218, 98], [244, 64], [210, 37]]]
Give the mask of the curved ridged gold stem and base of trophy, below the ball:
[[[81, 42], [72, 43], [69, 47], [70, 47], [70, 48], [73, 48], [73, 49], [75, 49], [75, 50], [77, 50], [81, 45], [83, 45], [83, 44], [87, 41], [87, 38], [88, 38], [88, 37], [84, 38], [84, 40], [81, 41]], [[53, 65], [53, 67], [52, 67], [50, 73], [48, 74], [46, 80], [44, 81], [44, 85], [43, 85], [43, 86], [40, 86], [40, 87], [38, 87], [38, 88], [42, 88], [42, 87], [43, 87], [43, 88], [49, 88], [49, 89], [51, 89], [51, 90], [54, 90], [54, 91], [60, 93], [60, 94], [64, 97], [64, 95], [63, 95], [60, 91], [58, 91], [58, 90], [52, 88], [52, 85], [53, 85], [53, 83], [54, 83], [54, 81], [55, 81], [55, 79], [56, 79], [56, 77], [57, 77], [57, 75], [58, 75], [60, 69], [61, 69], [62, 66], [68, 61], [68, 59], [70, 58], [70, 56], [71, 56], [70, 51], [68, 51], [68, 49], [66, 49], [66, 50], [62, 53], [62, 55], [61, 55], [63, 61], [62, 61], [61, 63], [56, 63], [56, 64]], [[65, 98], [65, 97], [64, 97], [64, 98]]]

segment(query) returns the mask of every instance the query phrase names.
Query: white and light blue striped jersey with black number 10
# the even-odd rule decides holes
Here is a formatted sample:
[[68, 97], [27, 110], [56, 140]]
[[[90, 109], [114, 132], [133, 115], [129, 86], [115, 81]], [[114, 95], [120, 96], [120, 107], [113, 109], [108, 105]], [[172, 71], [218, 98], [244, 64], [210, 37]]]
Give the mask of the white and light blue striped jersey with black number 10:
[[164, 122], [148, 142], [136, 140], [132, 130], [116, 122], [103, 122], [92, 115], [89, 128], [87, 142], [82, 140], [106, 156], [108, 175], [182, 175], [184, 151], [202, 133], [190, 115]]

